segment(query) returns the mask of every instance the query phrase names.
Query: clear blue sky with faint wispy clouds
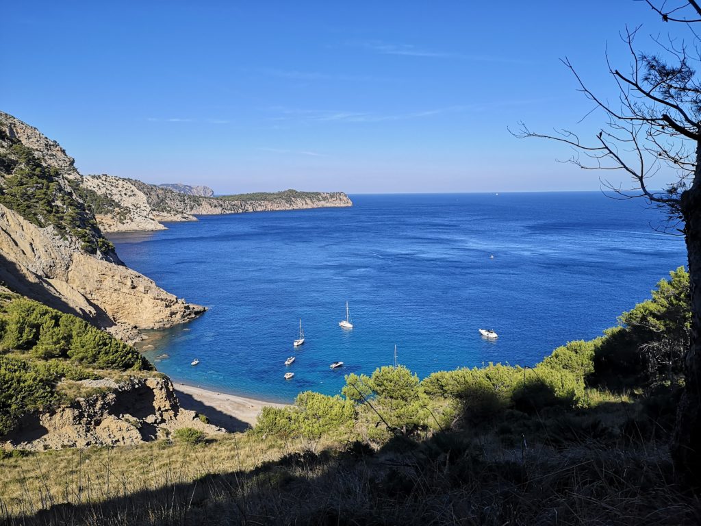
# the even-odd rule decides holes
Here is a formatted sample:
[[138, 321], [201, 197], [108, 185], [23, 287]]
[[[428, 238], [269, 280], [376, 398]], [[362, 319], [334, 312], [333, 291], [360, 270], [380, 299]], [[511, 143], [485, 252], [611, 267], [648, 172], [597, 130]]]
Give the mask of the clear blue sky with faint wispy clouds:
[[604, 117], [560, 59], [615, 97], [619, 32], [668, 30], [634, 0], [66, 0], [3, 18], [1, 110], [83, 174], [217, 194], [597, 190], [566, 146], [509, 129], [593, 137]]

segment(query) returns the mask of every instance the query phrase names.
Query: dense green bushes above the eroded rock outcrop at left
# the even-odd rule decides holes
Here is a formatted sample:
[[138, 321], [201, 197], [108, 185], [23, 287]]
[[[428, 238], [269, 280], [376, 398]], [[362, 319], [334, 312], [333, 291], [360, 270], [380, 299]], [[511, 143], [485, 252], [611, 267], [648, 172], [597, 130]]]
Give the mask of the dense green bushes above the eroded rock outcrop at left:
[[62, 379], [95, 370], [151, 370], [132, 346], [86, 321], [16, 295], [0, 301], [0, 436], [22, 416], [65, 403]]

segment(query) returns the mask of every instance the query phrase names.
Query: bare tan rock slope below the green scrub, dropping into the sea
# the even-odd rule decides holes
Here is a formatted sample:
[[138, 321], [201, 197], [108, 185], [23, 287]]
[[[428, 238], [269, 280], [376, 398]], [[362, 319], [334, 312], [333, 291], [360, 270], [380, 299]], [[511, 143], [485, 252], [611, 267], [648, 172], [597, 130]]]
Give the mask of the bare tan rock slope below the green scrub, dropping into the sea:
[[102, 328], [143, 329], [188, 321], [187, 304], [137, 271], [81, 252], [52, 229], [39, 229], [0, 205], [0, 280], [22, 295], [75, 313]]

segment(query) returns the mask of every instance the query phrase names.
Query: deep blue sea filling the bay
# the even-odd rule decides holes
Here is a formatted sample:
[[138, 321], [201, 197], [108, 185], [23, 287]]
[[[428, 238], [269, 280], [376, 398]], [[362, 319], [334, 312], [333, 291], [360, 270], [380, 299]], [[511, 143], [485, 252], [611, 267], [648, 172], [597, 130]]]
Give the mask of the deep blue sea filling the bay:
[[[128, 266], [209, 308], [144, 342], [157, 344], [144, 354], [168, 354], [156, 367], [175, 381], [283, 402], [338, 393], [349, 372], [391, 364], [395, 344], [422, 378], [533, 365], [601, 335], [686, 264], [683, 239], [652, 228], [657, 211], [599, 192], [351, 198], [353, 208], [204, 216], [110, 236]], [[338, 325], [346, 301], [351, 331]], [[295, 350], [300, 318], [306, 344]], [[285, 367], [288, 356], [297, 361]], [[345, 367], [330, 370], [335, 360]]]

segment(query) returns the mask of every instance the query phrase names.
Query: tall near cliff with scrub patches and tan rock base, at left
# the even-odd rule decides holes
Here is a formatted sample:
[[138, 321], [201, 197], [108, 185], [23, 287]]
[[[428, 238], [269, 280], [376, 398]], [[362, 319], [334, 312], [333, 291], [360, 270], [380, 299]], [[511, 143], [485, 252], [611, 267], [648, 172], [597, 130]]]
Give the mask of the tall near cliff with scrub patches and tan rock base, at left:
[[97, 194], [86, 193], [56, 142], [1, 112], [0, 132], [0, 280], [8, 288], [116, 334], [203, 312], [123, 265], [86, 204]]

